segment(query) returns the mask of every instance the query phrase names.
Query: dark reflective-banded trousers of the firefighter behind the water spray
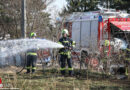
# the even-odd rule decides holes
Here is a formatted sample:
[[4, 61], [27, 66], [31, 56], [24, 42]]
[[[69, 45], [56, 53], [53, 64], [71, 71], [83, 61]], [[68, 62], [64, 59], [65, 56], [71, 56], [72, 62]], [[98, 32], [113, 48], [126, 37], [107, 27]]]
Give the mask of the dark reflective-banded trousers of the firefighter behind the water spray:
[[36, 61], [37, 56], [36, 55], [28, 55], [27, 56], [27, 73], [30, 73], [30, 69], [32, 69], [32, 73], [36, 70]]

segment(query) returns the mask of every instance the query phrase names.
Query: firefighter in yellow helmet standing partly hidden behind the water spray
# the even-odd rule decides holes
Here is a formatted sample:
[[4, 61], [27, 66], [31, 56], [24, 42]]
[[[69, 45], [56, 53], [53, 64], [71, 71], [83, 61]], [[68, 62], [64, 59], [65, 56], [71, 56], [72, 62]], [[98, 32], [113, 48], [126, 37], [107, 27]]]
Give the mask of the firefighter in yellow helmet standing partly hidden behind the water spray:
[[[35, 39], [36, 33], [32, 32], [30, 34], [31, 39]], [[30, 73], [30, 70], [32, 70], [32, 73], [36, 70], [36, 61], [37, 61], [37, 50], [31, 49], [27, 51], [27, 72], [26, 74]]]

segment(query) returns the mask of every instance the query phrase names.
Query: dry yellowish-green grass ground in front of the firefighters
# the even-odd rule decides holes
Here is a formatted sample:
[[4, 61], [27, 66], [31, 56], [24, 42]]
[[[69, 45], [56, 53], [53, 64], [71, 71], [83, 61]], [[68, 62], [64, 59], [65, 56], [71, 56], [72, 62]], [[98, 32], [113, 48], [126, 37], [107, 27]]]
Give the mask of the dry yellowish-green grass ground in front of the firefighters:
[[19, 88], [20, 90], [130, 90], [130, 80], [111, 79], [86, 70], [75, 70], [74, 77], [60, 75], [56, 69], [44, 72], [38, 70], [35, 74], [2, 73], [4, 88]]

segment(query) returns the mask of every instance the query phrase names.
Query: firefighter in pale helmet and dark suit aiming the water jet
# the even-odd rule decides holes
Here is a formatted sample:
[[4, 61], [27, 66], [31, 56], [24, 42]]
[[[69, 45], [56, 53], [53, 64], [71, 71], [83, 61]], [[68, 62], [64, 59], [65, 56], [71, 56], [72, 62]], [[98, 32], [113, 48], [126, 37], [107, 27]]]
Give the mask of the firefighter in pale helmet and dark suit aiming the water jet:
[[67, 61], [68, 64], [68, 71], [69, 75], [73, 75], [73, 68], [72, 68], [72, 59], [71, 59], [71, 50], [75, 47], [75, 42], [71, 40], [69, 37], [69, 32], [67, 29], [62, 30], [62, 37], [59, 39], [59, 44], [62, 44], [64, 48], [59, 50], [60, 54], [60, 71], [62, 75], [65, 75], [65, 64]]

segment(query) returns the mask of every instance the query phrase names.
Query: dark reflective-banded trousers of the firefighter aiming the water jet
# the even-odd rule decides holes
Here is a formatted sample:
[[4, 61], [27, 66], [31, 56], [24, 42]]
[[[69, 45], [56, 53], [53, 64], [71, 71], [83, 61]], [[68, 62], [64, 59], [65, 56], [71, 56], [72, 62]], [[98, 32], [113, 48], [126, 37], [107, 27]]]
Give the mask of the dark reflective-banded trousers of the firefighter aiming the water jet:
[[69, 75], [72, 75], [73, 74], [72, 59], [70, 57], [68, 57], [68, 55], [61, 55], [60, 56], [61, 74], [65, 75], [66, 61], [67, 61], [67, 64], [68, 64]]

